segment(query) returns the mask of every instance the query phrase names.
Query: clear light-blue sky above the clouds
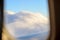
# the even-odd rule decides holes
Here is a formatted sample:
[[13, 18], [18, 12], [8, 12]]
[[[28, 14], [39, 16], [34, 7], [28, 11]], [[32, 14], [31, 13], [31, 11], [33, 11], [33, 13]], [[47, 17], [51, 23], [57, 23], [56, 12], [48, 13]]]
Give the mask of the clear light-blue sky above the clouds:
[[41, 12], [48, 15], [47, 0], [5, 0], [5, 10], [19, 12], [27, 10], [32, 12]]

